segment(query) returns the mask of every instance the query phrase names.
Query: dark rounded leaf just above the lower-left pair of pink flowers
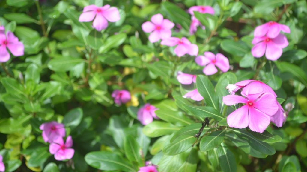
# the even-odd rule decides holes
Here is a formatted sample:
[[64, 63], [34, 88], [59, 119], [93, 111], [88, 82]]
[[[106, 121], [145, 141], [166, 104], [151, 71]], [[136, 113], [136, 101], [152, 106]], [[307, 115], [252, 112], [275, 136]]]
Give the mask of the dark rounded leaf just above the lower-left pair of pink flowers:
[[65, 127], [70, 127], [71, 129], [76, 128], [83, 117], [83, 110], [79, 107], [73, 110], [70, 110], [67, 114], [64, 115], [63, 124]]

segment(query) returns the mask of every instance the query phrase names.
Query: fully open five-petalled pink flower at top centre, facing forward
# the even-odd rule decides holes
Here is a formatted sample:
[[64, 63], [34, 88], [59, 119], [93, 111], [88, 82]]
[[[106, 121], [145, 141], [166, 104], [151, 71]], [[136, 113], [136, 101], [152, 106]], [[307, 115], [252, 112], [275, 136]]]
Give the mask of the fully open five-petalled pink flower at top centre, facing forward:
[[156, 14], [151, 17], [151, 22], [146, 21], [142, 24], [142, 29], [146, 33], [152, 32], [148, 39], [151, 43], [155, 43], [160, 39], [171, 37], [171, 28], [174, 26], [175, 24], [168, 19], [163, 19], [162, 14]]

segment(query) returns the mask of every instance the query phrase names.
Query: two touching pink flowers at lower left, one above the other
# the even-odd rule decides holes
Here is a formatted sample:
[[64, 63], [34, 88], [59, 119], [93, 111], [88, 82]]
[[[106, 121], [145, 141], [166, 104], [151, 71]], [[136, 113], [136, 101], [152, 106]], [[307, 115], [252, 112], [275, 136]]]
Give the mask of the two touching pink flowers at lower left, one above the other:
[[73, 141], [71, 136], [67, 136], [64, 142], [63, 137], [66, 136], [64, 124], [52, 121], [43, 123], [39, 128], [43, 131], [44, 141], [50, 143], [49, 152], [56, 160], [72, 159], [75, 154], [75, 150], [71, 148]]

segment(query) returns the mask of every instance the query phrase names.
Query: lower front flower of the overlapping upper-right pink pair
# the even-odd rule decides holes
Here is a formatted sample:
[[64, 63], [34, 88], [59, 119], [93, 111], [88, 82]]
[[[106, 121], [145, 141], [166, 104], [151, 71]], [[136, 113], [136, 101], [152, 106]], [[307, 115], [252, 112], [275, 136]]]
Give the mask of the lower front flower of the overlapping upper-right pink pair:
[[279, 34], [275, 38], [267, 36], [255, 37], [252, 41], [255, 45], [251, 49], [251, 54], [259, 58], [266, 54], [266, 58], [272, 61], [277, 60], [282, 55], [282, 49], [289, 45], [286, 36]]

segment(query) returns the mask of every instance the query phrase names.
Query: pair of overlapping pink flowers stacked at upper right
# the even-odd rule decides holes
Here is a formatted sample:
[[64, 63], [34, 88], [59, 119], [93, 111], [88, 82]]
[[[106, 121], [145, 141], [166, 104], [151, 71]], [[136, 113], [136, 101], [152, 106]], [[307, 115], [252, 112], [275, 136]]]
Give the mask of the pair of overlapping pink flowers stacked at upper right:
[[260, 58], [264, 54], [268, 60], [275, 61], [282, 55], [282, 49], [289, 45], [288, 39], [280, 32], [290, 33], [290, 28], [274, 21], [267, 22], [255, 28], [254, 47], [251, 53]]

